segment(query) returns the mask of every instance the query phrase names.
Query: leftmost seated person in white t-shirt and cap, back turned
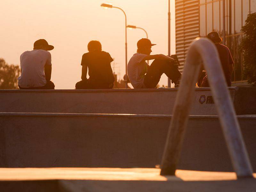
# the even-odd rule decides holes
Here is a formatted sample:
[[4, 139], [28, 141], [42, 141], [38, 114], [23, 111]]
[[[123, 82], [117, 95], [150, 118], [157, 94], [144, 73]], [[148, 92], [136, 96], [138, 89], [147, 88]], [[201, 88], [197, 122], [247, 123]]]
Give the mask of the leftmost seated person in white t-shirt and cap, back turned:
[[54, 89], [51, 81], [52, 56], [48, 52], [53, 48], [46, 40], [39, 39], [34, 43], [33, 51], [25, 51], [20, 55], [20, 89]]

